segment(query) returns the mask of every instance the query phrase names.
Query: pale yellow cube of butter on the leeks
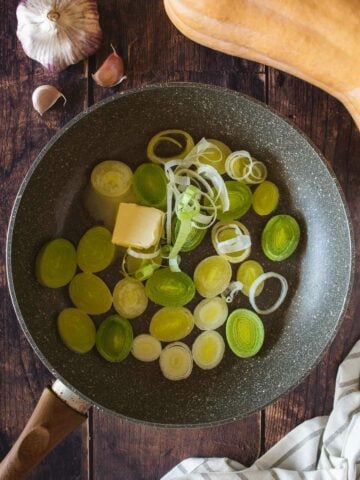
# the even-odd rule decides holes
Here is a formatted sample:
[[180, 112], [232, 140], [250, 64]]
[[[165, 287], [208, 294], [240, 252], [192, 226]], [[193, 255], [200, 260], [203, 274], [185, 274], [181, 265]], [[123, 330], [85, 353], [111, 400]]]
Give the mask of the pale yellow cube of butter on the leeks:
[[150, 248], [160, 241], [164, 212], [135, 203], [120, 203], [112, 243], [120, 247]]

